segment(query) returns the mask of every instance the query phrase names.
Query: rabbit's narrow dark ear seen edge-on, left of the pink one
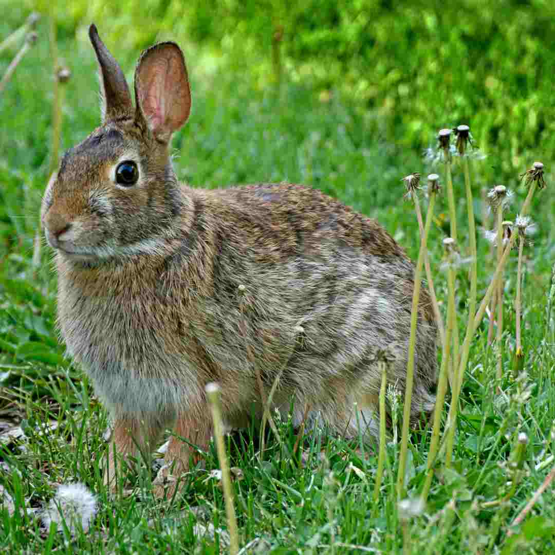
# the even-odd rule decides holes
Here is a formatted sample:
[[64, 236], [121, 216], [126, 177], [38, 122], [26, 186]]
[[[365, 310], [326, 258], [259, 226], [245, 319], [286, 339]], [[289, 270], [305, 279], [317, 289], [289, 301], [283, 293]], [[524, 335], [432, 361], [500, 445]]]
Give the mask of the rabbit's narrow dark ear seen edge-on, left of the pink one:
[[89, 38], [98, 59], [103, 121], [129, 117], [133, 114], [133, 102], [122, 68], [100, 40], [94, 23], [89, 27]]

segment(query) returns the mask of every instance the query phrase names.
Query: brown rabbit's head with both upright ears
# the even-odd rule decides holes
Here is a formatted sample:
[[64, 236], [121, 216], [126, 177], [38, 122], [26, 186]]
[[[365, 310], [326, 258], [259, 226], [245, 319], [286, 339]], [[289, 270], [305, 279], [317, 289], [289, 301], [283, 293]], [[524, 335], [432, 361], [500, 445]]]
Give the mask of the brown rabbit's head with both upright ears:
[[185, 62], [175, 43], [143, 52], [135, 107], [122, 69], [89, 29], [97, 54], [102, 125], [65, 153], [44, 194], [48, 243], [64, 259], [94, 265], [157, 252], [183, 197], [171, 168], [171, 134], [189, 117]]

